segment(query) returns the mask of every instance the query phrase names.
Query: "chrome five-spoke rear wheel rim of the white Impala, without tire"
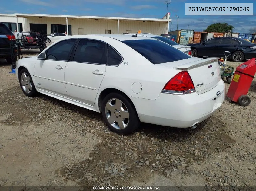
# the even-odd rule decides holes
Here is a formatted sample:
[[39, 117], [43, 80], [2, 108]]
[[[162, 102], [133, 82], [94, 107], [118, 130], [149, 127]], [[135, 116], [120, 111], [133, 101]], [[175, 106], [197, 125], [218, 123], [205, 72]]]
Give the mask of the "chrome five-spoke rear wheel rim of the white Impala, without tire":
[[129, 123], [129, 112], [125, 104], [119, 99], [108, 100], [105, 107], [108, 122], [115, 129], [125, 129]]

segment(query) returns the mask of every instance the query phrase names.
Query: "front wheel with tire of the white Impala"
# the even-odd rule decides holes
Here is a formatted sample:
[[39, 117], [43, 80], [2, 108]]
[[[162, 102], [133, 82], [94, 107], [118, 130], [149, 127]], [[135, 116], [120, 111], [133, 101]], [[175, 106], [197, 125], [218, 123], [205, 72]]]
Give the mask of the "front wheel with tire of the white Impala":
[[37, 93], [31, 75], [27, 69], [22, 69], [19, 74], [20, 87], [23, 93], [28, 97], [34, 97]]

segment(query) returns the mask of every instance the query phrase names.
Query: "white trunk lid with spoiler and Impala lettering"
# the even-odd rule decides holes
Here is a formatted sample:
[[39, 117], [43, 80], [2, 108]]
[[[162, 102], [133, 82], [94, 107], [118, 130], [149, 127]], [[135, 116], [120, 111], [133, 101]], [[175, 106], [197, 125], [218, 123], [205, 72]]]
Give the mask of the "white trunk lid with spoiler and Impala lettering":
[[198, 94], [211, 90], [221, 79], [218, 58], [199, 59], [191, 57], [161, 65], [188, 71]]

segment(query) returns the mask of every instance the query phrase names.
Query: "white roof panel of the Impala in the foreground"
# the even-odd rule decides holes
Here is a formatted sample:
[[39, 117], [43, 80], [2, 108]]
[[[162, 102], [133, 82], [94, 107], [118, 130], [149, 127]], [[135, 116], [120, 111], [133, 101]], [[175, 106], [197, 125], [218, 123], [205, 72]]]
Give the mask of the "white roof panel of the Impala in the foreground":
[[153, 40], [152, 38], [145, 37], [145, 36], [139, 36], [137, 37], [132, 37], [131, 35], [124, 35], [124, 34], [82, 34], [82, 35], [73, 35], [73, 36], [68, 36], [68, 38], [90, 38], [90, 37], [108, 37], [108, 38], [113, 38], [119, 41], [123, 40], [143, 40], [143, 39], [150, 39]]

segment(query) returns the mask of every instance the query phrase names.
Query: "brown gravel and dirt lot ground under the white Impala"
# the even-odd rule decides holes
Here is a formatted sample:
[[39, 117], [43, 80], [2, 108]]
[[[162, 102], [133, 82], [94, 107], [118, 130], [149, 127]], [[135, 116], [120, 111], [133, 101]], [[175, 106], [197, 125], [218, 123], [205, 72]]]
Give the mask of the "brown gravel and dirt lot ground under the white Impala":
[[0, 60], [0, 68], [0, 186], [255, 189], [255, 79], [248, 107], [225, 100], [195, 130], [143, 123], [121, 136], [106, 128], [100, 113], [42, 94], [26, 97], [10, 66]]

